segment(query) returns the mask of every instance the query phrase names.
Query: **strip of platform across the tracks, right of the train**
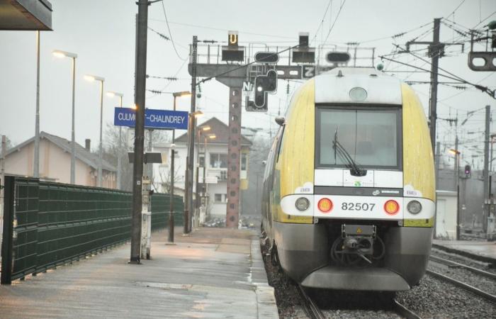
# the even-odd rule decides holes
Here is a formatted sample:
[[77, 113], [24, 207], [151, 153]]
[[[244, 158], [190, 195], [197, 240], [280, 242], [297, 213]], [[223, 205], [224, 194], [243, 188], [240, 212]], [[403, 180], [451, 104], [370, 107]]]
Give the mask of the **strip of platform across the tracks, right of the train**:
[[486, 240], [433, 240], [432, 247], [496, 266], [496, 242]]

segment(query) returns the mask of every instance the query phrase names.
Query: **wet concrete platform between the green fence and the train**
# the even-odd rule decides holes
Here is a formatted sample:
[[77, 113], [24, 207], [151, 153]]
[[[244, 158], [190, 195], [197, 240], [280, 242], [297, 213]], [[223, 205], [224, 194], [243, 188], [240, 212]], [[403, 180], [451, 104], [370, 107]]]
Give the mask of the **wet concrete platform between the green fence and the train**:
[[130, 245], [0, 286], [1, 318], [278, 318], [257, 234], [200, 228], [154, 233], [152, 259]]

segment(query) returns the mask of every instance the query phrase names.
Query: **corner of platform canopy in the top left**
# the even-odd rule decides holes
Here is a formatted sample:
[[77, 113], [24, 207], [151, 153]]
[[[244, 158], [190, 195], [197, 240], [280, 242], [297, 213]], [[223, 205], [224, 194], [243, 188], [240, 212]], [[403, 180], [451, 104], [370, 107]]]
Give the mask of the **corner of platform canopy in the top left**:
[[52, 30], [47, 0], [0, 0], [0, 30]]

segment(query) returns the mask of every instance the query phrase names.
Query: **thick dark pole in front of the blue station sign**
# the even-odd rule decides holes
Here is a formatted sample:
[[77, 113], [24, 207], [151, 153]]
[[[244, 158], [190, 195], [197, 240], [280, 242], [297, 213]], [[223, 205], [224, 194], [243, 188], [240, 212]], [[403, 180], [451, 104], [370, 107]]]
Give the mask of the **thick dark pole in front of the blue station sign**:
[[131, 264], [140, 264], [143, 146], [145, 139], [145, 89], [147, 73], [148, 0], [137, 2], [137, 48], [135, 81], [135, 152], [133, 164], [133, 216], [131, 223]]

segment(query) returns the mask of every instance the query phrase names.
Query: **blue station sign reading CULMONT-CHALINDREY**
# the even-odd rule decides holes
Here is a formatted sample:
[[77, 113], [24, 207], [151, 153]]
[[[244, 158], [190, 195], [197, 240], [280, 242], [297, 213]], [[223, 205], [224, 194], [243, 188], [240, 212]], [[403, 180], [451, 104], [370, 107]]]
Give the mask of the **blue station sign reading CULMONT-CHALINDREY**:
[[[136, 111], [133, 108], [115, 108], [113, 125], [135, 127]], [[188, 129], [188, 112], [145, 109], [145, 128]]]

